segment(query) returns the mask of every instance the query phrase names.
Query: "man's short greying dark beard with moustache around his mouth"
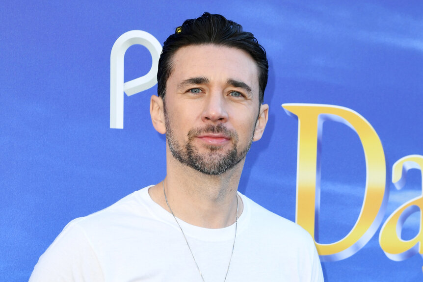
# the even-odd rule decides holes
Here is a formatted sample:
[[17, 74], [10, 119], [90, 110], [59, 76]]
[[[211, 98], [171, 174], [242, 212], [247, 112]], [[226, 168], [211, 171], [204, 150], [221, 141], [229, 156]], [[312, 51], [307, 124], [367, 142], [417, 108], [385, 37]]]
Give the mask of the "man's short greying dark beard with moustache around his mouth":
[[[166, 111], [164, 111], [164, 117], [166, 140], [172, 155], [182, 164], [206, 175], [220, 175], [236, 166], [245, 158], [253, 142], [253, 135], [251, 135], [247, 146], [238, 153], [238, 134], [235, 130], [229, 130], [223, 124], [208, 124], [202, 128], [189, 130], [187, 134], [188, 141], [185, 145], [182, 145], [173, 134]], [[232, 142], [231, 149], [227, 152], [219, 152], [222, 146], [205, 145], [209, 152], [200, 153], [193, 145], [193, 142], [196, 136], [204, 133], [222, 133], [228, 136]]]

